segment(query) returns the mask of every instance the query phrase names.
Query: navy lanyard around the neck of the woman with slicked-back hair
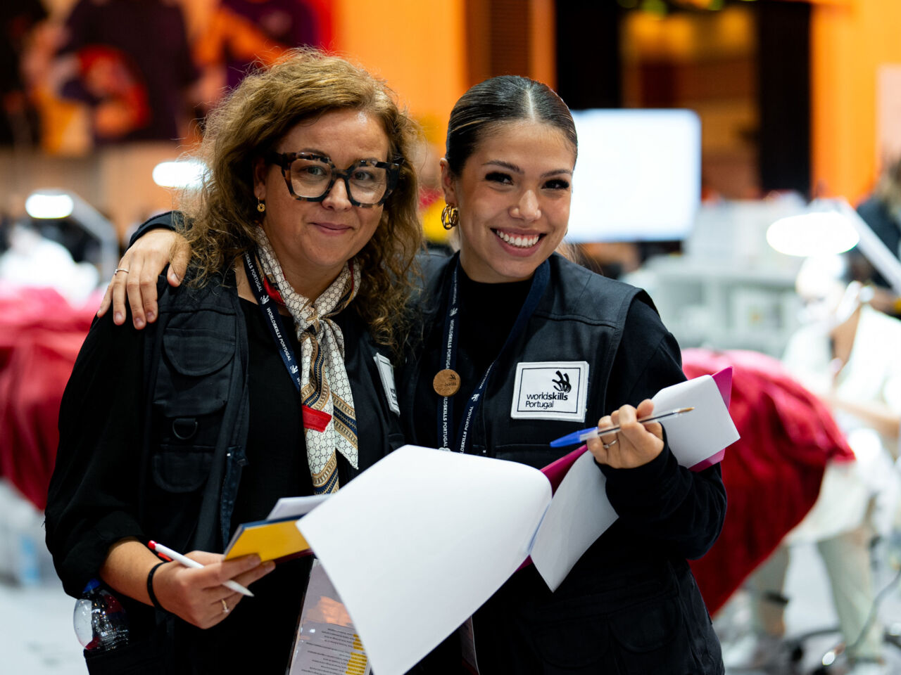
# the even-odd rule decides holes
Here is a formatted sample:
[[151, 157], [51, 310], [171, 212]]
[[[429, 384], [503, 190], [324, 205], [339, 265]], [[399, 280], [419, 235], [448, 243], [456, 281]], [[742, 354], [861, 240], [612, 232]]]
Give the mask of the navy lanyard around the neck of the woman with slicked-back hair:
[[[487, 367], [487, 370], [485, 371], [485, 374], [482, 375], [482, 379], [479, 381], [476, 389], [473, 390], [469, 399], [466, 401], [466, 409], [463, 410], [463, 418], [460, 419], [460, 428], [457, 431], [457, 437], [460, 439], [460, 442], [454, 448], [457, 452], [466, 452], [466, 444], [467, 440], [469, 440], [469, 428], [472, 424], [472, 420], [475, 418], [476, 410], [478, 410], [478, 406], [482, 402], [482, 394], [485, 393], [488, 377], [490, 377], [491, 371], [494, 369], [498, 359], [503, 356], [507, 347], [510, 347], [510, 345], [514, 343], [514, 340], [520, 336], [523, 329], [525, 329], [525, 324], [528, 323], [529, 319], [532, 317], [532, 312], [538, 307], [538, 303], [542, 299], [544, 290], [548, 287], [548, 279], [551, 277], [550, 270], [551, 264], [547, 260], [535, 270], [535, 274], [532, 275], [532, 286], [529, 288], [529, 294], [525, 297], [523, 307], [520, 308], [519, 315], [514, 321], [513, 328], [510, 329], [510, 334], [504, 342], [504, 347], [501, 347], [495, 360]], [[458, 293], [459, 274], [460, 257], [457, 258], [457, 263], [454, 266], [453, 274], [451, 275], [451, 298], [448, 302], [447, 314], [444, 317], [444, 340], [441, 343], [444, 345], [445, 350], [444, 368], [451, 370], [457, 365], [457, 334], [460, 328], [460, 296]], [[438, 409], [437, 415], [438, 439], [441, 441], [442, 450], [450, 450], [451, 445], [453, 444], [453, 439], [451, 438], [453, 396], [442, 396], [441, 399], [441, 406]]]

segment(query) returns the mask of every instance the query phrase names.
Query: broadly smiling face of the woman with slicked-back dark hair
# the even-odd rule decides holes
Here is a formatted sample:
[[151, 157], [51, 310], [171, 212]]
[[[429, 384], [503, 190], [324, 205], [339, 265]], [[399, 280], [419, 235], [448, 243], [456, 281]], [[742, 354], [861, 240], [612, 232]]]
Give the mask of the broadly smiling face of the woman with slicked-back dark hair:
[[486, 130], [460, 175], [441, 160], [445, 201], [460, 210], [460, 265], [487, 284], [522, 281], [566, 234], [576, 151], [541, 121]]

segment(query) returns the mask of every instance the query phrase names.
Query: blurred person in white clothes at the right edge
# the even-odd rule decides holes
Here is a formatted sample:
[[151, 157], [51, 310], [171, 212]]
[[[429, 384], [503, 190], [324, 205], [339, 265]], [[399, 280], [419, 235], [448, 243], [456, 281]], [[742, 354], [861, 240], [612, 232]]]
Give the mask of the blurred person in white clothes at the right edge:
[[727, 650], [733, 668], [779, 661], [790, 601], [784, 583], [793, 544], [815, 542], [824, 562], [851, 673], [890, 672], [871, 559], [876, 536], [898, 526], [898, 426], [901, 420], [901, 321], [866, 302], [846, 258], [810, 257], [797, 276], [808, 323], [790, 338], [783, 364], [833, 415], [855, 461], [826, 466], [819, 498], [805, 519], [749, 580], [752, 635]]

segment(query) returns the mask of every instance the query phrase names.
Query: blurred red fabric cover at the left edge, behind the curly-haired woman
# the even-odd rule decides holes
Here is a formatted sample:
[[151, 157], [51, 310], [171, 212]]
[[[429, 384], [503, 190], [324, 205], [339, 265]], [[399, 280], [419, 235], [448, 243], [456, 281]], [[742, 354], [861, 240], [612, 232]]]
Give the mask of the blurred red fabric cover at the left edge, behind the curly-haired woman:
[[0, 287], [0, 476], [41, 510], [59, 401], [98, 304], [73, 308], [49, 288]]

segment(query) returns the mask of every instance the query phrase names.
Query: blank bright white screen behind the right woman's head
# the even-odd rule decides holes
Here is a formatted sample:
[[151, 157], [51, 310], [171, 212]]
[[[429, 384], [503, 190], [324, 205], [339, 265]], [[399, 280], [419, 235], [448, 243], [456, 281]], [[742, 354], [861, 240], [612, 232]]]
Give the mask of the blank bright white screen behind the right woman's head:
[[572, 116], [578, 161], [567, 239], [686, 238], [701, 200], [696, 113], [585, 110]]

